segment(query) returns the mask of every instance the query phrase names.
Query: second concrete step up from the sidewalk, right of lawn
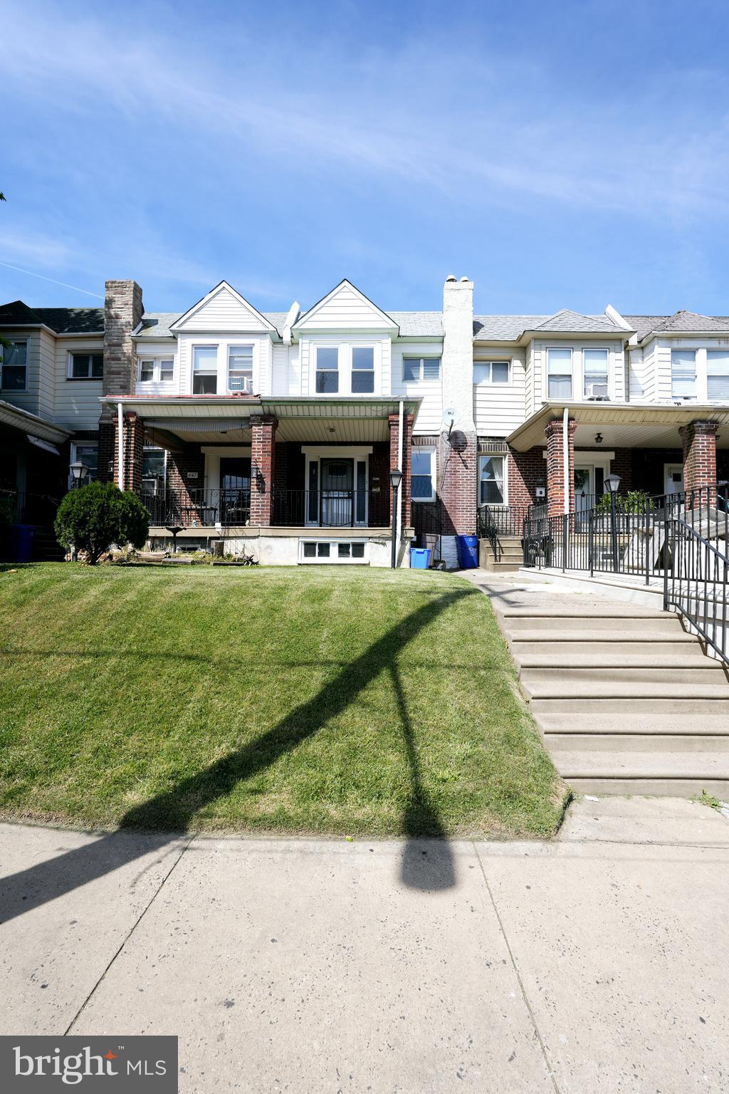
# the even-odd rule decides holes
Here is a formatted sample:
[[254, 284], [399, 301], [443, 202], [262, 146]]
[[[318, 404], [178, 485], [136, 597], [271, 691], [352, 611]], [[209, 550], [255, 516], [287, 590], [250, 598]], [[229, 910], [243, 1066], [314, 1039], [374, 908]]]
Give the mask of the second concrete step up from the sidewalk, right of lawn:
[[[692, 705], [693, 707], [693, 705]], [[683, 714], [651, 713], [643, 707], [635, 713], [581, 713], [562, 711], [545, 712], [540, 715], [539, 724], [544, 735], [557, 735], [568, 741], [573, 735], [599, 737], [601, 735], [639, 734], [642, 736], [669, 735], [680, 733], [682, 736], [727, 736], [729, 737], [729, 718], [726, 713], [713, 713], [712, 709]]]

